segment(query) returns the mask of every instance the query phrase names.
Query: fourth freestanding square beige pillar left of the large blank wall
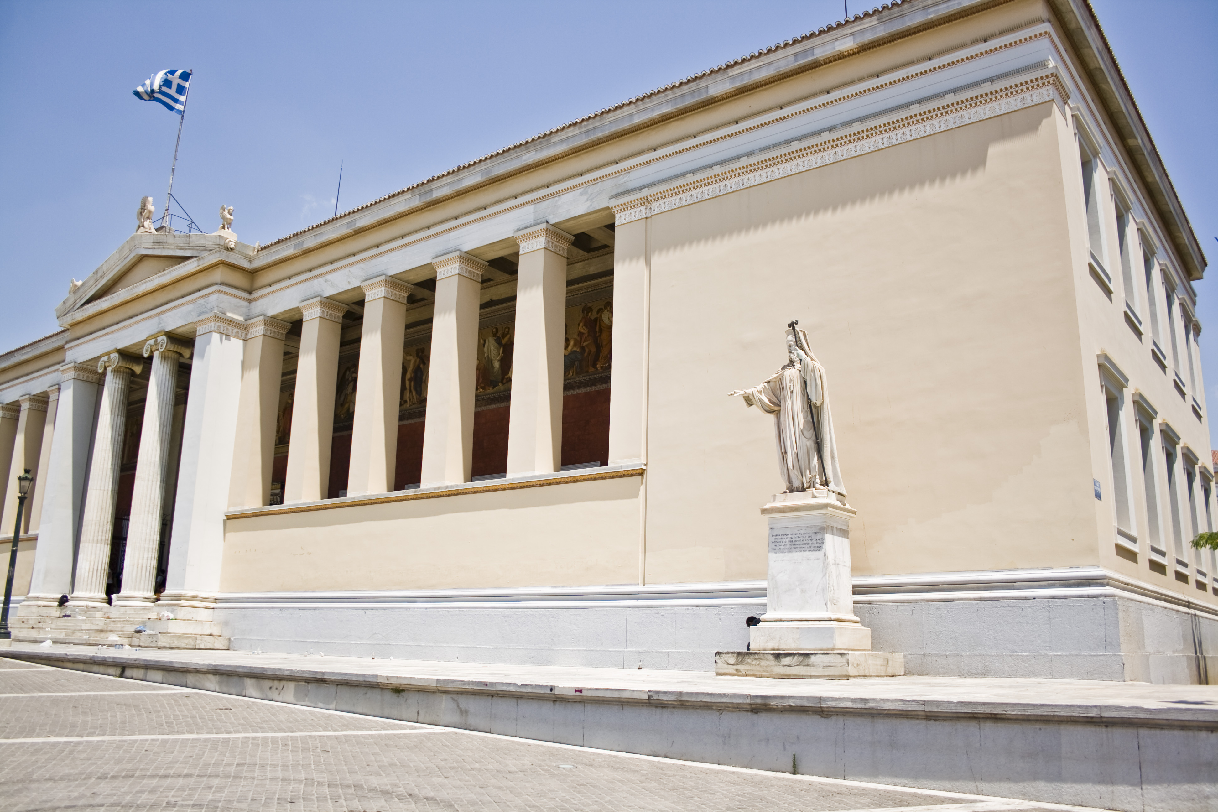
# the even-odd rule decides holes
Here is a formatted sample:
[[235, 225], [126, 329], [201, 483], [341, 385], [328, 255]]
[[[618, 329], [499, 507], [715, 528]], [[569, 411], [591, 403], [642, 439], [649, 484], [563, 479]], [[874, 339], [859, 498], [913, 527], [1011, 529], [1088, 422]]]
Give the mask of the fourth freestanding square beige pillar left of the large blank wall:
[[284, 503], [325, 499], [334, 439], [334, 390], [339, 379], [339, 342], [346, 304], [328, 298], [301, 302], [301, 354], [292, 399], [292, 436], [287, 444]]

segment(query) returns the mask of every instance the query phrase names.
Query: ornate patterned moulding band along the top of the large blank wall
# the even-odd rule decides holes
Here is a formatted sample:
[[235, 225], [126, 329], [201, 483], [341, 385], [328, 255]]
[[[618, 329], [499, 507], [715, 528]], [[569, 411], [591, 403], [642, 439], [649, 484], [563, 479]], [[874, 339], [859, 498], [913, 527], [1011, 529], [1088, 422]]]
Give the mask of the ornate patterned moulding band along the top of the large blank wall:
[[1065, 105], [1068, 99], [1069, 91], [1056, 67], [1049, 67], [1043, 69], [1039, 75], [940, 103], [910, 116], [901, 116], [870, 127], [860, 124], [853, 131], [843, 135], [814, 135], [794, 145], [778, 147], [777, 152], [762, 153], [760, 158], [752, 158], [734, 167], [705, 172], [702, 177], [675, 185], [635, 192], [613, 203], [614, 218], [618, 225], [625, 225], [691, 203], [728, 195], [1046, 101]]

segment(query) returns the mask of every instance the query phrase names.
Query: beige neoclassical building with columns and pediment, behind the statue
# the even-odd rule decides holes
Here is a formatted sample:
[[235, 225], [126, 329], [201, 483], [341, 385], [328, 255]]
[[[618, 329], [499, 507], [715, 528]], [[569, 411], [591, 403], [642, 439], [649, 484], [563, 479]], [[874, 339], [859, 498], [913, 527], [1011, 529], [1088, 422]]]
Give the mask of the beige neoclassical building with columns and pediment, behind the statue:
[[16, 635], [709, 670], [782, 487], [726, 394], [799, 319], [877, 650], [1213, 679], [1205, 265], [1085, 0], [906, 0], [267, 245], [138, 233], [0, 355]]

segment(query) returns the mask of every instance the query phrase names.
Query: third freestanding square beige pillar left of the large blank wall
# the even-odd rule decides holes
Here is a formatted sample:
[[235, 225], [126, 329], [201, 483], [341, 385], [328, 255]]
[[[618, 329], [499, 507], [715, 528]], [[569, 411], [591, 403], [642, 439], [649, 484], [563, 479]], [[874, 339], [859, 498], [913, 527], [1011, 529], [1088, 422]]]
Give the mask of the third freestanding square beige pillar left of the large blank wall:
[[378, 276], [361, 287], [364, 327], [359, 340], [347, 495], [393, 489], [406, 297], [410, 292], [409, 285], [390, 276]]

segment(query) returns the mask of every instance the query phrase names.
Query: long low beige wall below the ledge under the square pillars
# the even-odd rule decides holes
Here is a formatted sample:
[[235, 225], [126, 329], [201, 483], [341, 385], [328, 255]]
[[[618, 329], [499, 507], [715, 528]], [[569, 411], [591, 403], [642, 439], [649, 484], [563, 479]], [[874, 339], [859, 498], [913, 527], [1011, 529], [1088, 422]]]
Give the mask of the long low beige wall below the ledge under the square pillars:
[[637, 583], [639, 477], [230, 519], [223, 592]]

